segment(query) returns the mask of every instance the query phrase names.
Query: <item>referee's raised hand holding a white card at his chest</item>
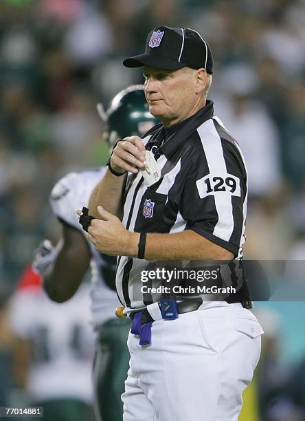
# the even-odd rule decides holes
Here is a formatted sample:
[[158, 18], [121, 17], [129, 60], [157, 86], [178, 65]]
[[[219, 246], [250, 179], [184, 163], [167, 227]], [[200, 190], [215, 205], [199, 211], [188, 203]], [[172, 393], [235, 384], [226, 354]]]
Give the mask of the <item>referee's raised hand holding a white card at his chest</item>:
[[128, 136], [117, 142], [111, 155], [111, 168], [117, 173], [129, 171], [137, 173], [135, 168], [144, 168], [146, 149], [142, 139], [139, 136]]

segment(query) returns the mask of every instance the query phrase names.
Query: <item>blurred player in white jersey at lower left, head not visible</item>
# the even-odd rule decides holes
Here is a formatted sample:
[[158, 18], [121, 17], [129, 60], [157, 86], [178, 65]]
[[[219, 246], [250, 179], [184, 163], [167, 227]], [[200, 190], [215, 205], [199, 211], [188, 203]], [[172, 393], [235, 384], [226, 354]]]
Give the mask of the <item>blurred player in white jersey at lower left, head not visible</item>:
[[45, 421], [93, 420], [89, 288], [82, 283], [59, 305], [45, 294], [41, 276], [26, 268], [10, 300], [19, 405], [43, 407]]

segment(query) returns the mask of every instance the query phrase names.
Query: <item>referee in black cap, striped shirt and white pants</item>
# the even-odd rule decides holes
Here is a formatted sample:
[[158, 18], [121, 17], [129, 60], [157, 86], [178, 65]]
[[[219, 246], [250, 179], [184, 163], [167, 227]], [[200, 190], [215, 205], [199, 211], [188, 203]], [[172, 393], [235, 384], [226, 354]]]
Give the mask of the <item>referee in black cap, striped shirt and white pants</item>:
[[[117, 294], [133, 319], [124, 420], [237, 420], [260, 356], [255, 316], [227, 298], [167, 302], [143, 294], [140, 277], [156, 260], [242, 257], [247, 171], [206, 99], [212, 53], [198, 32], [159, 26], [148, 34], [144, 54], [124, 65], [144, 66], [149, 110], [162, 122], [143, 139], [117, 142], [89, 200], [97, 218], [89, 239], [119, 256]], [[146, 151], [159, 169], [153, 184], [143, 177]]]

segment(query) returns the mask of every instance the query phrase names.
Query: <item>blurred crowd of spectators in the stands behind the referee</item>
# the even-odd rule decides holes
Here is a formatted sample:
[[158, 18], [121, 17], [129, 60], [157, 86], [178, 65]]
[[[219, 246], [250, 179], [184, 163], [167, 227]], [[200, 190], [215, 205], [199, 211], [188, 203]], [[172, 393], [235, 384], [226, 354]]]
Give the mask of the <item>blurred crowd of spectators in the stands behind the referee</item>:
[[246, 257], [304, 259], [304, 1], [1, 0], [0, 309], [34, 248], [56, 241], [54, 183], [106, 162], [95, 105], [143, 83], [122, 59], [160, 24], [212, 48], [209, 98], [249, 169]]

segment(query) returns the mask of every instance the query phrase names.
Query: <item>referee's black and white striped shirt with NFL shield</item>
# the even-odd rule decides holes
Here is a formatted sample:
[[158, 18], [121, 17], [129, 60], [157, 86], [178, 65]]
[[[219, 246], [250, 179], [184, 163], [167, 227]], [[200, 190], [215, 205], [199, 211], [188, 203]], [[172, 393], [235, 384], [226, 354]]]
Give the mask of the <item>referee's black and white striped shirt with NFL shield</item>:
[[[139, 233], [199, 235], [242, 257], [247, 210], [247, 171], [236, 140], [214, 116], [213, 102], [168, 128], [157, 125], [143, 139], [158, 149], [161, 179], [148, 187], [141, 173], [129, 174], [124, 226]], [[160, 146], [161, 144], [161, 146]], [[117, 294], [126, 307], [151, 301], [139, 293], [141, 270], [152, 263], [131, 257], [117, 261]]]

